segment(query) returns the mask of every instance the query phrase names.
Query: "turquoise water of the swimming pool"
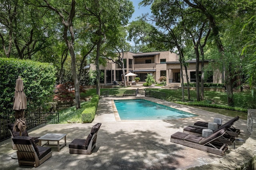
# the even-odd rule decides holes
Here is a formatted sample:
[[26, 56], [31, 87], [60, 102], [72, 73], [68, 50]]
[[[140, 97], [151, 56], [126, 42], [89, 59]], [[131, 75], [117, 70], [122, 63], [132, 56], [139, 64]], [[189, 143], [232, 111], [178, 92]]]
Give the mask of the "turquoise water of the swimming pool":
[[192, 113], [148, 100], [114, 100], [121, 120], [164, 120], [194, 117]]

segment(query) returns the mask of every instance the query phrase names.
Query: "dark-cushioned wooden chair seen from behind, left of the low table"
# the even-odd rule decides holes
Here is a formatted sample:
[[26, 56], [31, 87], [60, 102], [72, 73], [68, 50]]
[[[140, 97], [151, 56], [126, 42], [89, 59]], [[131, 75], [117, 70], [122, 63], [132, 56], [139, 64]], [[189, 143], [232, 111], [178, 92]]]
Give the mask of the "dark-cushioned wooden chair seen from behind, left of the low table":
[[36, 146], [32, 137], [16, 136], [12, 138], [17, 147], [19, 165], [32, 165], [38, 167], [52, 156], [50, 147]]

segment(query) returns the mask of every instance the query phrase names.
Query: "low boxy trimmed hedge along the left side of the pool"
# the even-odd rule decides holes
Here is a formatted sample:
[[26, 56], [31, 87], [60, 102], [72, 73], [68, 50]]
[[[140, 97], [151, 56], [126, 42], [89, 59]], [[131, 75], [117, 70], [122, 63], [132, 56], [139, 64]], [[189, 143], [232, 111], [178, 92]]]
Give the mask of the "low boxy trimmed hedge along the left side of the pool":
[[99, 99], [99, 95], [92, 96], [91, 101], [86, 105], [86, 109], [82, 112], [82, 123], [92, 123], [97, 111]]

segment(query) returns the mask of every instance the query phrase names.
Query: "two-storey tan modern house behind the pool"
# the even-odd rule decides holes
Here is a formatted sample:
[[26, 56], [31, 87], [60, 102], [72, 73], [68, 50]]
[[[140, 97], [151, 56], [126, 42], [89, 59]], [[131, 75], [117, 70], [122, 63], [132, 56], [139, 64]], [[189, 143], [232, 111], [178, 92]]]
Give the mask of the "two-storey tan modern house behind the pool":
[[[188, 62], [188, 77], [190, 82], [196, 82], [196, 60], [186, 61]], [[207, 66], [208, 60], [204, 61], [204, 66]], [[96, 70], [94, 64], [90, 64], [91, 70]], [[172, 83], [180, 83], [181, 81], [181, 71], [179, 57], [176, 53], [170, 51], [158, 51], [150, 53], [124, 53], [124, 69], [126, 74], [132, 72], [137, 74], [140, 78], [140, 82], [145, 82], [146, 76], [151, 74], [154, 76], [156, 82], [159, 82], [161, 76], [166, 76], [166, 85]], [[201, 63], [200, 63], [201, 71]], [[186, 83], [185, 68], [183, 70], [184, 82]], [[102, 77], [100, 83], [102, 84], [112, 84], [115, 80], [118, 82], [122, 81], [122, 68], [119, 64], [116, 64], [109, 60], [106, 66], [100, 66], [100, 71], [102, 72]], [[209, 72], [210, 77], [207, 82], [221, 83], [222, 76], [221, 72]], [[104, 76], [103, 76], [104, 75]], [[127, 78], [127, 77], [126, 77]], [[132, 81], [129, 77], [129, 80]]]

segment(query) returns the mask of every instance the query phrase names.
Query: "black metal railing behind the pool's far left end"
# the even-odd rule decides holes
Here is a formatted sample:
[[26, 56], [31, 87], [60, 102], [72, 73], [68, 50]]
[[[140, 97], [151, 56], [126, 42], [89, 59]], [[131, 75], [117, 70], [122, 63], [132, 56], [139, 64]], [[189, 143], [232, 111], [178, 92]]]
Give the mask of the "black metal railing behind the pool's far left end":
[[137, 96], [139, 94], [139, 89], [136, 90], [120, 90], [120, 89], [110, 89], [104, 90], [101, 92], [100, 96], [108, 97], [108, 96]]

